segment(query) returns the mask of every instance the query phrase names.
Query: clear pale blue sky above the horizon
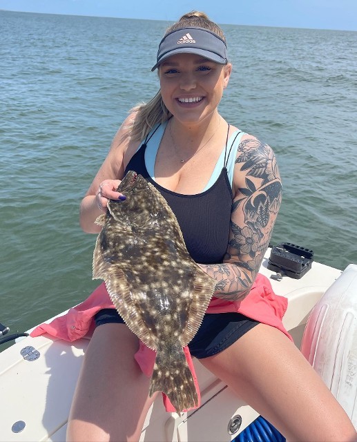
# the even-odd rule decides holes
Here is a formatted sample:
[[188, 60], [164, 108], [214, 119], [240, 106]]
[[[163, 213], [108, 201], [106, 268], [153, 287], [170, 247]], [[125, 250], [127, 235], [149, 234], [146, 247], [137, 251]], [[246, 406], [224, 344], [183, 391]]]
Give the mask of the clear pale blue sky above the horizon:
[[220, 24], [357, 30], [357, 0], [0, 0], [0, 10], [175, 21], [202, 10]]

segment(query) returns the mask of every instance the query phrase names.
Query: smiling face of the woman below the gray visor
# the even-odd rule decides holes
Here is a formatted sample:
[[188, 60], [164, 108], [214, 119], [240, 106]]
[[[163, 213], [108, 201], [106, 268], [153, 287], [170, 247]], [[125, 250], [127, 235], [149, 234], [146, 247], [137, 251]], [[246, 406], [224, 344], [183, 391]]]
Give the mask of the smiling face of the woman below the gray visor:
[[173, 55], [159, 67], [162, 99], [182, 123], [198, 123], [213, 115], [230, 75], [231, 64], [195, 54]]

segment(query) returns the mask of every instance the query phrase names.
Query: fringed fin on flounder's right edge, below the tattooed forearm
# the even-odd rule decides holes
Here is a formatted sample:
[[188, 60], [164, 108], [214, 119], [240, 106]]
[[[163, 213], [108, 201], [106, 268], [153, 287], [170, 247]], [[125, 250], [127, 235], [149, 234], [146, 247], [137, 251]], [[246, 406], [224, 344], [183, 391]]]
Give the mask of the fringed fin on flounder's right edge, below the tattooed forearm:
[[215, 284], [215, 280], [197, 266], [193, 280], [192, 302], [188, 314], [189, 319], [181, 336], [182, 347], [186, 347], [200, 328], [206, 309], [215, 291]]

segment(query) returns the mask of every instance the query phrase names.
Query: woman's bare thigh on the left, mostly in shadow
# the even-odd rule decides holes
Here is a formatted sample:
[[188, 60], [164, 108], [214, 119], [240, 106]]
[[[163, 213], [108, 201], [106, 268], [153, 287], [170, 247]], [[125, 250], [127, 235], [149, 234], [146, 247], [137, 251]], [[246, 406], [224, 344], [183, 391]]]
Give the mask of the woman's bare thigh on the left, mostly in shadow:
[[68, 441], [138, 440], [154, 398], [137, 365], [137, 337], [124, 324], [95, 329], [68, 419]]

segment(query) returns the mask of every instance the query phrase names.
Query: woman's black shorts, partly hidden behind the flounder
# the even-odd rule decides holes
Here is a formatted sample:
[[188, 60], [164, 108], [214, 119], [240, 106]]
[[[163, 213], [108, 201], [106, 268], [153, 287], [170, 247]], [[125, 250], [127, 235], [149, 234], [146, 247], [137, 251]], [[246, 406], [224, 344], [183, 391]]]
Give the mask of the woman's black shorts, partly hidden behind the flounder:
[[[116, 309], [102, 309], [95, 315], [95, 325], [124, 324]], [[189, 349], [195, 358], [208, 358], [222, 352], [259, 323], [240, 313], [205, 314]]]

